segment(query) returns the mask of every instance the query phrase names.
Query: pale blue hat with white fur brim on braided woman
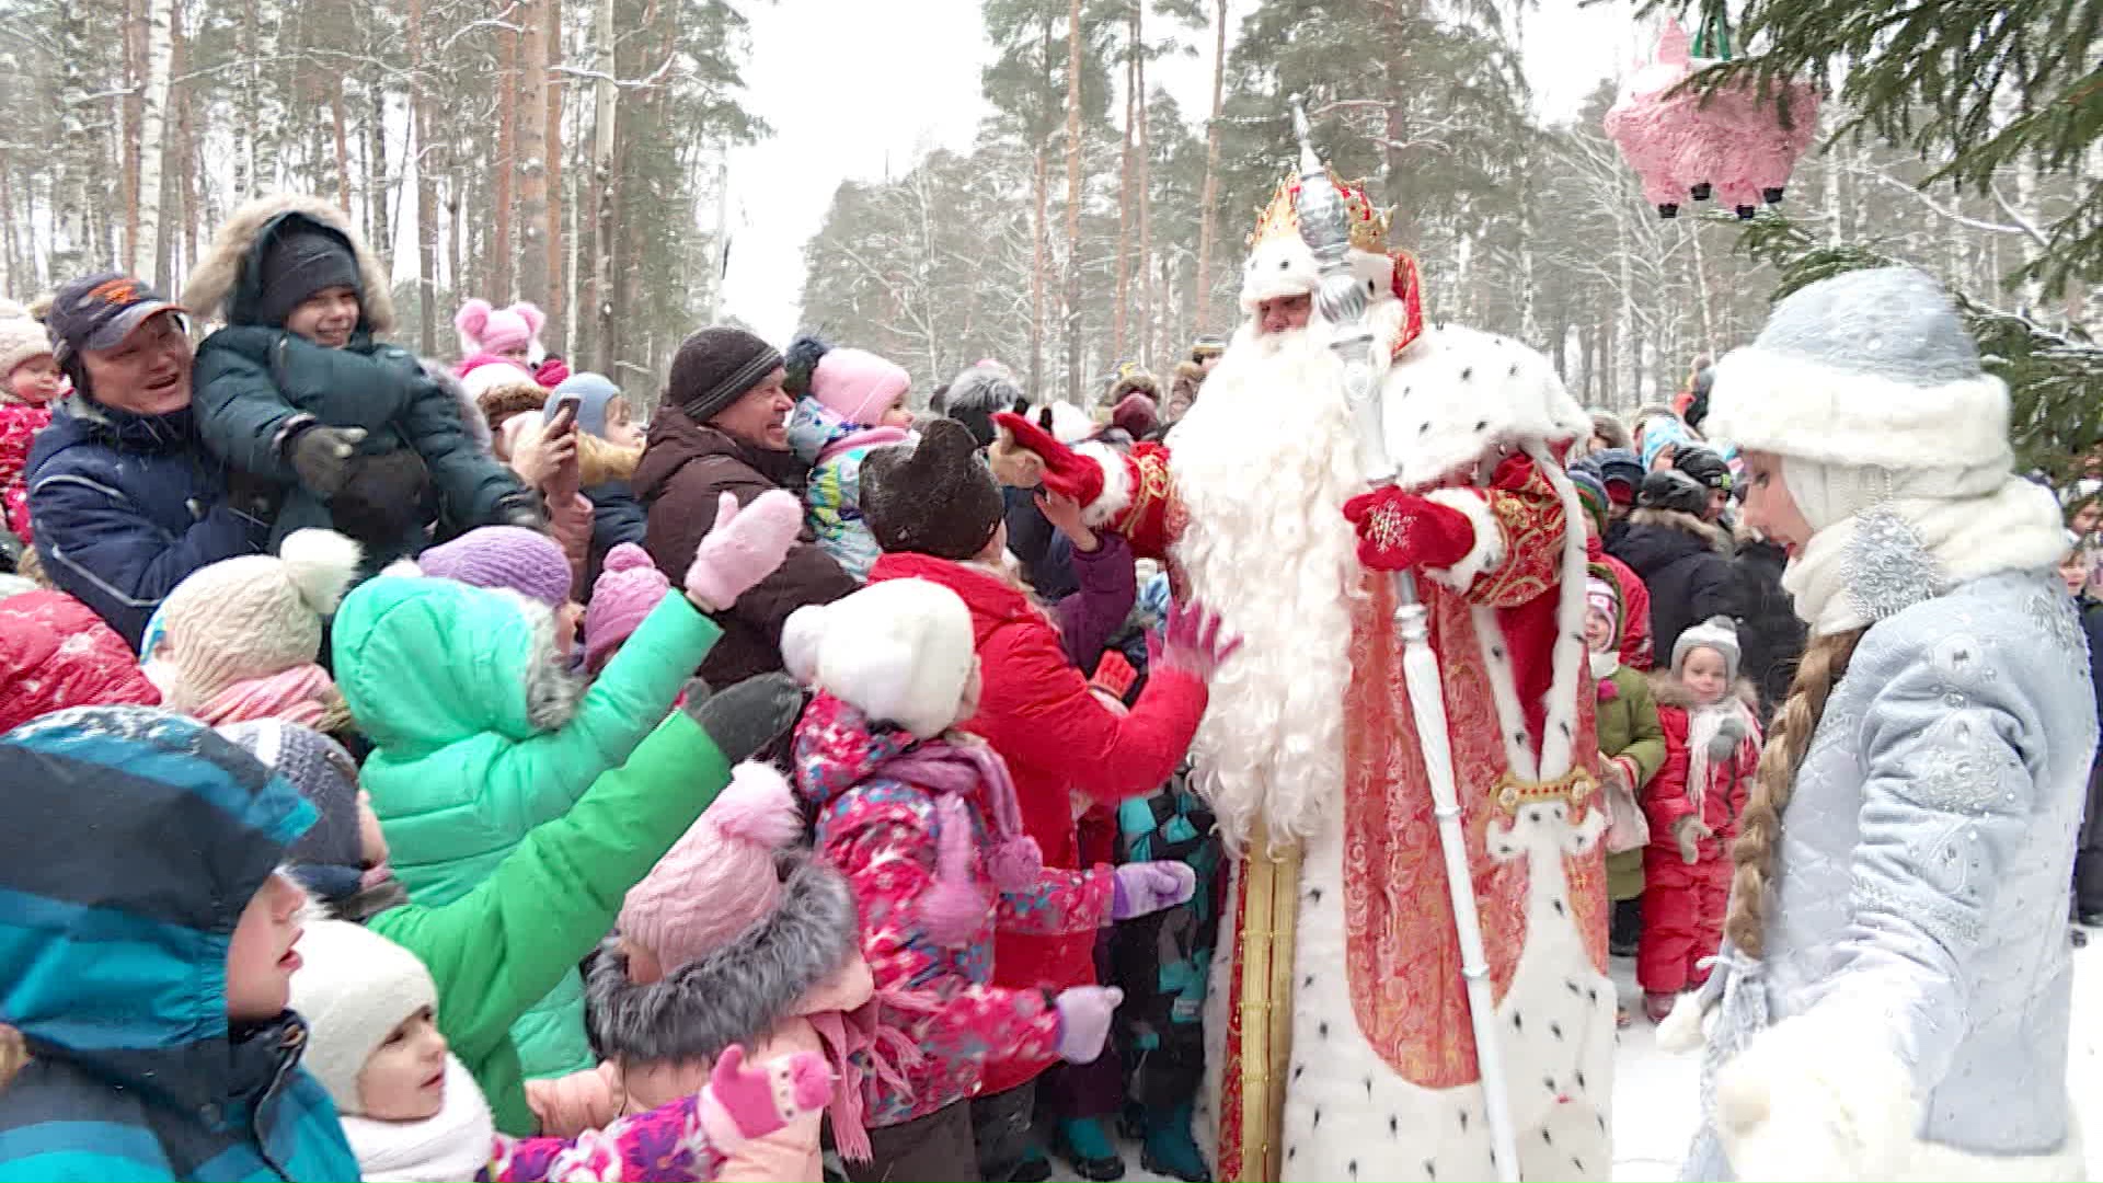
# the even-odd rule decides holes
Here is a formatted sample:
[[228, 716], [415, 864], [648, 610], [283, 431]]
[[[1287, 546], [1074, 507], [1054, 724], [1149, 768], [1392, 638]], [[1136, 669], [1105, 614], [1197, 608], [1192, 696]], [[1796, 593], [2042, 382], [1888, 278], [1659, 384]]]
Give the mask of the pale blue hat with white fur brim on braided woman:
[[1912, 267], [1819, 280], [1716, 364], [1710, 438], [1838, 467], [2004, 474], [2008, 387], [1943, 288]]

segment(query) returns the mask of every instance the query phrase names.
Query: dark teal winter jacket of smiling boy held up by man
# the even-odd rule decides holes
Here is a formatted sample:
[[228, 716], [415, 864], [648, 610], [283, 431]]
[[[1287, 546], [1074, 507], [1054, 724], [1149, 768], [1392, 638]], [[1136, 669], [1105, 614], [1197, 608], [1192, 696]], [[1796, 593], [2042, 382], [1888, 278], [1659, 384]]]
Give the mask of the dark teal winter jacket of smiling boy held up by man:
[[[343, 349], [254, 322], [263, 255], [282, 229], [294, 225], [334, 234], [349, 246], [336, 227], [303, 213], [267, 221], [248, 246], [227, 299], [231, 324], [198, 345], [191, 383], [204, 446], [233, 469], [286, 486], [271, 549], [292, 530], [330, 526], [326, 499], [303, 486], [284, 459], [284, 440], [301, 423], [364, 427], [366, 440], [358, 450], [368, 457], [414, 448], [431, 472], [435, 520], [448, 533], [503, 520], [507, 503], [524, 501], [526, 488], [475, 444], [461, 400], [412, 354], [374, 341], [364, 320]], [[423, 516], [404, 526], [391, 545], [374, 543], [370, 568], [421, 552], [431, 524], [431, 516]]]

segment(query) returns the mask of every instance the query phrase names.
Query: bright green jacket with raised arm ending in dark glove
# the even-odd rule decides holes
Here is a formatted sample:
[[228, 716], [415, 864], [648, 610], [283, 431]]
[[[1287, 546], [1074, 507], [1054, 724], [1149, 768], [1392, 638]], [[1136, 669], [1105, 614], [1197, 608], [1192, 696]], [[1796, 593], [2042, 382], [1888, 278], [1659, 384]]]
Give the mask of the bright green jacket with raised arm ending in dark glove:
[[410, 903], [368, 926], [416, 954], [437, 983], [437, 1027], [475, 1076], [496, 1128], [534, 1132], [513, 1027], [606, 937], [629, 888], [730, 783], [730, 762], [673, 711], [593, 781], [562, 817], [530, 831], [461, 899]]

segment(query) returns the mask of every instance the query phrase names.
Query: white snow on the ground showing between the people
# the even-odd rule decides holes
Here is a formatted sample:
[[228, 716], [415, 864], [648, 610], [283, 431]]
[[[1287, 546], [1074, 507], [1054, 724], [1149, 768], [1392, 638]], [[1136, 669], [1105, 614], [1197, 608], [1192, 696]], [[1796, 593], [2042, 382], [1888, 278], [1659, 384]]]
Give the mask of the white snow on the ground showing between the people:
[[[1630, 958], [1613, 960], [1613, 979], [1621, 987], [1624, 1000], [1640, 1002], [1636, 994], [1636, 964]], [[1621, 1052], [1615, 1061], [1613, 1080], [1613, 1183], [1670, 1183], [1678, 1175], [1680, 1156], [1693, 1137], [1699, 1118], [1695, 1095], [1699, 1080], [1697, 1057], [1672, 1057], [1657, 1050], [1657, 1029], [1642, 1021], [1640, 1004], [1634, 1006], [1636, 1023], [1621, 1031]], [[2103, 1130], [2103, 933], [2097, 943], [2074, 954], [2074, 1046], [2069, 1048], [2067, 1086], [2080, 1111], [2082, 1128]], [[1138, 1147], [1125, 1147], [1129, 1183], [1171, 1183], [1161, 1175], [1140, 1170]], [[2088, 1143], [2088, 1175], [2103, 1179], [2103, 1139]], [[1077, 1177], [1060, 1170], [1054, 1183], [1075, 1183]]]

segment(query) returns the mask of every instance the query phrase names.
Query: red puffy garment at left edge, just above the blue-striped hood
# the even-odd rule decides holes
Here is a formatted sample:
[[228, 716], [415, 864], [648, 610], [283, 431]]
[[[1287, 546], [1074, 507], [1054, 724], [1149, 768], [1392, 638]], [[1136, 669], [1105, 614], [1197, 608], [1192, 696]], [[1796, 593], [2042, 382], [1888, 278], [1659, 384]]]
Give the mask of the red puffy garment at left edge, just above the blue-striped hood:
[[124, 638], [63, 592], [0, 600], [0, 730], [65, 707], [158, 707]]

